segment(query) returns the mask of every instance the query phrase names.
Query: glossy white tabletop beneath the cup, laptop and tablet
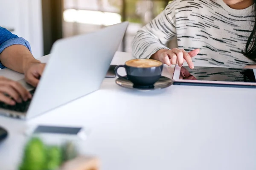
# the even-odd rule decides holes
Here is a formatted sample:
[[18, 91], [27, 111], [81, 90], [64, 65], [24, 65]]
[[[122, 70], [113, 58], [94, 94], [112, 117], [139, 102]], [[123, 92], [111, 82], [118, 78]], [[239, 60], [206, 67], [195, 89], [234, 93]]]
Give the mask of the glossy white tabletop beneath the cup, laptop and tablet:
[[[131, 58], [118, 52], [112, 63]], [[102, 170], [256, 169], [255, 89], [172, 85], [143, 92], [114, 80], [28, 122], [0, 117], [10, 132], [0, 144], [0, 169], [15, 170], [25, 126], [35, 124], [90, 128], [82, 150], [98, 156]]]

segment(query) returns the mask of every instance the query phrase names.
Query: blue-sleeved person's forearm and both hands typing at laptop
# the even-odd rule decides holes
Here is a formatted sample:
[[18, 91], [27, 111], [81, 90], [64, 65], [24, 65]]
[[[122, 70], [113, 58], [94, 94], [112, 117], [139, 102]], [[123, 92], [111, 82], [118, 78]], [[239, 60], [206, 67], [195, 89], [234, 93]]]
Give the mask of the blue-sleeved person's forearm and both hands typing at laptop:
[[[35, 59], [29, 42], [0, 27], [0, 68], [10, 68], [25, 75], [26, 82], [36, 87], [45, 64]], [[7, 94], [7, 95], [6, 95]], [[15, 105], [31, 98], [22, 85], [6, 77], [0, 77], [0, 101]]]

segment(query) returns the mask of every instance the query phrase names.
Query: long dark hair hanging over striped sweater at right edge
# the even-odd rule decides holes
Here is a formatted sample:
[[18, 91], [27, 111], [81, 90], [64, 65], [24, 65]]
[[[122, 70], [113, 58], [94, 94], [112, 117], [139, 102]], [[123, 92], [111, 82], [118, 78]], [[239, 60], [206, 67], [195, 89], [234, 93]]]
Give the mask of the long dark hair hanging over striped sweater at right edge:
[[245, 46], [245, 50], [242, 51], [242, 54], [247, 58], [256, 62], [256, 0], [254, 0], [254, 27], [253, 31], [251, 32]]

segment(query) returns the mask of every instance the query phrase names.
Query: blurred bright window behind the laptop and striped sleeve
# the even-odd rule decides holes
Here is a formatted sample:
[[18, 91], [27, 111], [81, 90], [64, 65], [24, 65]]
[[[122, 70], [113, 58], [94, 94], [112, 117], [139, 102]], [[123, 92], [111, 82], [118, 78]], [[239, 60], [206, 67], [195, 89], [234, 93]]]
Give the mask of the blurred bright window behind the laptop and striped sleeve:
[[151, 21], [169, 0], [64, 0], [63, 36], [89, 33], [129, 21], [122, 51], [131, 52], [137, 30]]

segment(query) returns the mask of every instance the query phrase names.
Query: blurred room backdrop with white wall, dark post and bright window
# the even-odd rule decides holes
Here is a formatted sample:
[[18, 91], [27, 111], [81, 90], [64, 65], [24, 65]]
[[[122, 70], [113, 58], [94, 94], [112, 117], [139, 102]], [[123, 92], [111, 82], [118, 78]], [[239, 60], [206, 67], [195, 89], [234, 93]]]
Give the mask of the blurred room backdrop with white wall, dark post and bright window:
[[137, 30], [170, 0], [0, 0], [0, 26], [28, 40], [37, 57], [63, 37], [86, 34], [129, 21], [119, 51], [131, 52]]

